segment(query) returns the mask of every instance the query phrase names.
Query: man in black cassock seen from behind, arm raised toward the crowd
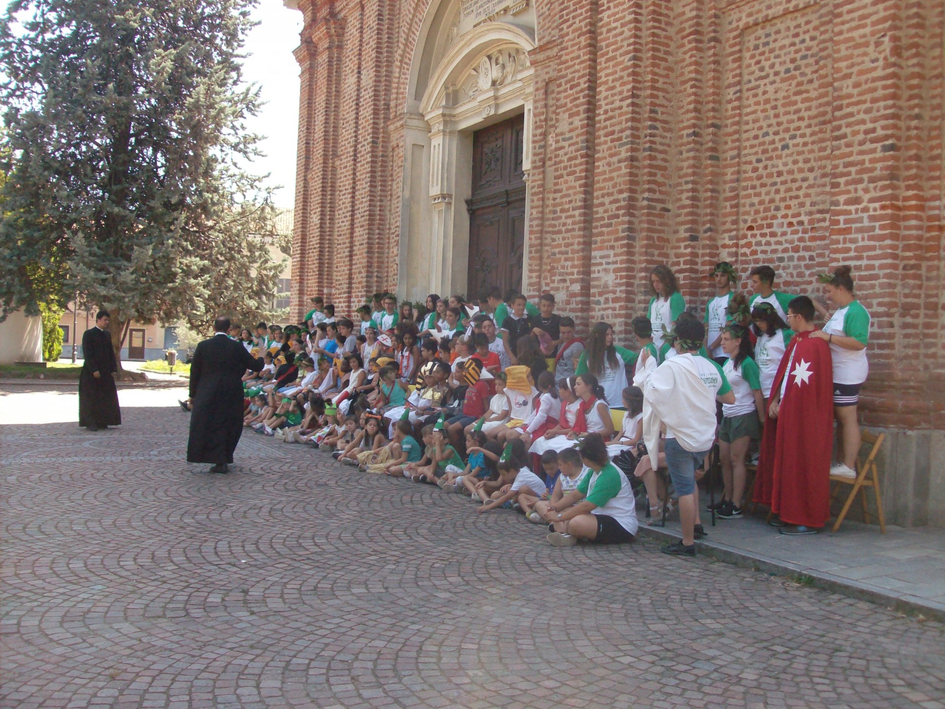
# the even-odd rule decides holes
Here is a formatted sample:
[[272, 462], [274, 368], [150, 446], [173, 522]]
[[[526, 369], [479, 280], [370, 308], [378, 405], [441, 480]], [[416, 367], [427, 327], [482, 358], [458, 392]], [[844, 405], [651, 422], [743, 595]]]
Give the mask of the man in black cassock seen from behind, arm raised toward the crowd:
[[229, 318], [214, 321], [214, 337], [203, 340], [190, 360], [190, 440], [187, 462], [214, 463], [226, 473], [243, 434], [243, 374], [265, 365], [230, 338]]

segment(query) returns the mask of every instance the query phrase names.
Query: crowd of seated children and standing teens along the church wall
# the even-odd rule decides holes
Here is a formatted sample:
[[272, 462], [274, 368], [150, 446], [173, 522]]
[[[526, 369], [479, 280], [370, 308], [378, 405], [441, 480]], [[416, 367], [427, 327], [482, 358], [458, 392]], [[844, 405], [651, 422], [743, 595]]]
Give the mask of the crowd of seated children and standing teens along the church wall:
[[[256, 336], [240, 332], [250, 351], [266, 356], [263, 372], [245, 377], [246, 425], [330, 451], [341, 464], [469, 493], [484, 503], [481, 511], [520, 509], [531, 522], [553, 523], [554, 544], [626, 541], [637, 528], [627, 481], [645, 495], [651, 521], [672, 494], [655, 475], [667, 467], [666, 437], [651, 441], [659, 450], [646, 450], [644, 394], [629, 385], [649, 381], [654, 366], [696, 355], [717, 370], [709, 373], [719, 380], [724, 405], [716, 439], [725, 490], [715, 512], [738, 518], [747, 456], [761, 438], [772, 382], [794, 335], [784, 312], [792, 297], [773, 289], [769, 267], [751, 271], [750, 300], [732, 288], [738, 278], [728, 263], [716, 265], [712, 278], [716, 295], [697, 319], [686, 311], [673, 272], [654, 268], [653, 298], [645, 315], [629, 323], [634, 349], [616, 345], [604, 322], [576, 337], [574, 320], [555, 314], [551, 294], [541, 295], [538, 307], [518, 293], [504, 300], [495, 287], [478, 294], [476, 304], [431, 294], [419, 311], [376, 294], [356, 310], [358, 322], [335, 319], [334, 306], [315, 298], [302, 327], [270, 329], [272, 337], [265, 323]], [[856, 318], [847, 312], [834, 326], [835, 315], [833, 330], [816, 335], [834, 350], [838, 341], [855, 351], [845, 355], [852, 362], [850, 372], [841, 372], [846, 379], [837, 381], [862, 382], [868, 315], [852, 298], [849, 268], [829, 280], [829, 298], [845, 306], [838, 314], [856, 306]], [[826, 314], [818, 303], [812, 308]], [[859, 384], [837, 387], [846, 462], [831, 472], [850, 475]], [[687, 520], [691, 504], [687, 498]], [[698, 537], [697, 499], [695, 522]]]

